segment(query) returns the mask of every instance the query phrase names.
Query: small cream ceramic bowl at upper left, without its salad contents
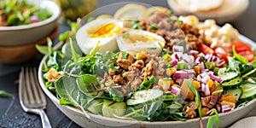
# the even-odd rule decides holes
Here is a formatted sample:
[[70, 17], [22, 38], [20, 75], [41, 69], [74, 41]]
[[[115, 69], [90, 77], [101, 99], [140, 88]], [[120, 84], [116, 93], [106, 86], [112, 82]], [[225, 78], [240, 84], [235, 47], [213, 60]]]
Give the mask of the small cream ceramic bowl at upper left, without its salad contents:
[[0, 26], [0, 46], [32, 44], [46, 38], [54, 31], [61, 15], [59, 6], [49, 0], [41, 1], [40, 8], [48, 9], [53, 15], [47, 20], [23, 26]]

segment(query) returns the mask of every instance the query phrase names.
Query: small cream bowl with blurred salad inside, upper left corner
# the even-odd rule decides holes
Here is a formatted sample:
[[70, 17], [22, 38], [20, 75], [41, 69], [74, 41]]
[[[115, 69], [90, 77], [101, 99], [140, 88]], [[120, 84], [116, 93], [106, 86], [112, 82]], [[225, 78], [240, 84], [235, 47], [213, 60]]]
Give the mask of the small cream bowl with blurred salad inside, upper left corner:
[[0, 46], [38, 43], [57, 26], [61, 9], [53, 1], [38, 5], [21, 0], [3, 0], [0, 4]]

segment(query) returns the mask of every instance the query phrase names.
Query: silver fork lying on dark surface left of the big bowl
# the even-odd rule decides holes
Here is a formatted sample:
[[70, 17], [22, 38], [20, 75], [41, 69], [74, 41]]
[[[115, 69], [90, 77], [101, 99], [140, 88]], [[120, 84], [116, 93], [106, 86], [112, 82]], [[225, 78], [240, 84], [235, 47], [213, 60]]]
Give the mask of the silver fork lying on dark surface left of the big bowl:
[[44, 93], [38, 84], [37, 68], [22, 67], [19, 83], [21, 108], [23, 108], [25, 112], [39, 114], [43, 128], [51, 128], [49, 119], [46, 113], [44, 113], [47, 102]]

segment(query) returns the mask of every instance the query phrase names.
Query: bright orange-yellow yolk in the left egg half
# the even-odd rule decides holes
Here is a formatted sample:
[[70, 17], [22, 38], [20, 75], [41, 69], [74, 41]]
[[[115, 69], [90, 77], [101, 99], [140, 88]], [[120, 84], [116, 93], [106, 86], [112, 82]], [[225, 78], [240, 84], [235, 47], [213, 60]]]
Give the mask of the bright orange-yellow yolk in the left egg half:
[[97, 26], [90, 28], [87, 31], [90, 38], [109, 38], [113, 37], [121, 32], [121, 27], [114, 23], [109, 23], [103, 26]]

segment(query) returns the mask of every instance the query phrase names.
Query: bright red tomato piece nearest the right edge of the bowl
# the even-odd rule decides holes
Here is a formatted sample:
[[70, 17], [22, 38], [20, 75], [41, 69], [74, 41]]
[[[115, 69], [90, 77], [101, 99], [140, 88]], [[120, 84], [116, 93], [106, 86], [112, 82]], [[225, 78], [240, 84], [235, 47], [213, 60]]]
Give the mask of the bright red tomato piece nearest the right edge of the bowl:
[[230, 50], [232, 50], [233, 45], [235, 45], [236, 53], [238, 55], [246, 57], [249, 62], [254, 60], [253, 49], [251, 49], [251, 47], [248, 44], [243, 43], [241, 41], [235, 42], [230, 45], [230, 47], [229, 47]]

